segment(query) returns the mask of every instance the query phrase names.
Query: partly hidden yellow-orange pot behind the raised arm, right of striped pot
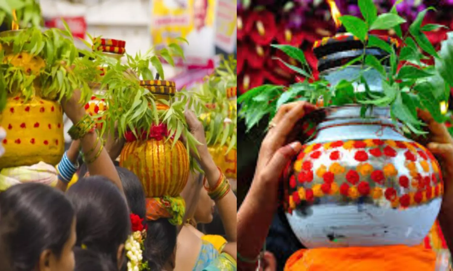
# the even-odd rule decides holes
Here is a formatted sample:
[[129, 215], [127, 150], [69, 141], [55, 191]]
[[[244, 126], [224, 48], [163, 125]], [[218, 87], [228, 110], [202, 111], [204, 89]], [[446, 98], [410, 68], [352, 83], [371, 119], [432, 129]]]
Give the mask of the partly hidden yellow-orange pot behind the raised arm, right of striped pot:
[[227, 154], [228, 146], [213, 145], [207, 148], [214, 159], [216, 165], [222, 169], [228, 179], [237, 178], [237, 151], [230, 150]]

